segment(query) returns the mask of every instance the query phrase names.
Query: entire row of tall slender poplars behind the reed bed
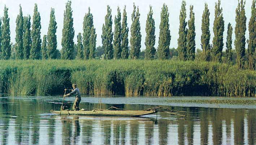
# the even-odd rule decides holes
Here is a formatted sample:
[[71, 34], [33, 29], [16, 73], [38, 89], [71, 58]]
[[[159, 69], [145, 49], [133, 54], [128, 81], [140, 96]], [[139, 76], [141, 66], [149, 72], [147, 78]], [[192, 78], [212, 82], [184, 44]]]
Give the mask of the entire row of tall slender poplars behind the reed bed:
[[[245, 45], [246, 45], [246, 16], [244, 9], [245, 1], [240, 0], [236, 9], [236, 25], [235, 25], [235, 49], [237, 52], [237, 65], [241, 69], [244, 67]], [[123, 16], [121, 22], [120, 8], [117, 8], [117, 15], [114, 17], [114, 32], [112, 32], [112, 10], [107, 6], [107, 14], [105, 16], [105, 23], [102, 26], [102, 44], [104, 48], [105, 59], [131, 59], [139, 58], [141, 48], [141, 33], [140, 33], [140, 13], [138, 6], [133, 4], [133, 13], [131, 15], [132, 24], [130, 27], [130, 49], [128, 47], [128, 32], [126, 7], [123, 9]], [[62, 29], [62, 59], [74, 59], [72, 55], [74, 52], [74, 27], [72, 17], [71, 1], [66, 3], [64, 11], [64, 24]], [[213, 55], [215, 62], [221, 62], [224, 33], [224, 18], [222, 15], [221, 2], [218, 0], [215, 3], [214, 24], [213, 24], [213, 41], [210, 44], [210, 30], [209, 30], [209, 9], [205, 3], [204, 12], [201, 23], [201, 48], [203, 49], [202, 59], [209, 61], [210, 53]], [[256, 32], [255, 32], [255, 0], [252, 1], [251, 18], [249, 22], [249, 39], [248, 43], [248, 64], [250, 69], [255, 69], [255, 46], [256, 46]], [[16, 43], [14, 45], [15, 56], [17, 59], [55, 59], [57, 52], [56, 29], [57, 23], [55, 20], [55, 10], [51, 8], [50, 22], [47, 35], [43, 36], [43, 42], [40, 38], [40, 13], [37, 10], [37, 5], [34, 7], [32, 30], [30, 30], [30, 16], [23, 17], [22, 8], [19, 6], [19, 14], [16, 19]], [[2, 22], [3, 21], [3, 22]], [[182, 1], [180, 15], [179, 15], [179, 38], [178, 38], [178, 58], [183, 61], [195, 59], [195, 14], [193, 5], [190, 5], [190, 16], [186, 22], [186, 2]], [[8, 8], [4, 8], [4, 16], [0, 19], [0, 57], [8, 60], [11, 54], [10, 46], [10, 26], [8, 18]], [[157, 53], [157, 57], [161, 60], [168, 59], [169, 45], [171, 40], [169, 30], [169, 12], [168, 6], [163, 4], [161, 10], [161, 22], [158, 48], [156, 52], [155, 46], [155, 20], [153, 19], [152, 6], [149, 6], [146, 21], [146, 50], [145, 59], [152, 60]], [[232, 59], [232, 33], [233, 27], [229, 23], [227, 26], [227, 40], [226, 40], [226, 55], [227, 60]], [[96, 33], [93, 25], [93, 16], [90, 13], [85, 14], [83, 19], [83, 34], [77, 35], [77, 59], [93, 59], [96, 51]], [[112, 43], [113, 42], [113, 43]], [[41, 45], [42, 43], [42, 45]]]

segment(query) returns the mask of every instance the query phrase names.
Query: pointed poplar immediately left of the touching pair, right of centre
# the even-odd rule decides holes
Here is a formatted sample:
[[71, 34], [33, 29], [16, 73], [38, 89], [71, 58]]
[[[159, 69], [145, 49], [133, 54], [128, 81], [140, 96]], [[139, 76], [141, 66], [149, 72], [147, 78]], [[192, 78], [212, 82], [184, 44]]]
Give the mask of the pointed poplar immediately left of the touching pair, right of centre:
[[161, 11], [161, 22], [159, 26], [159, 41], [157, 48], [157, 55], [160, 60], [168, 58], [170, 46], [170, 30], [169, 30], [169, 12], [166, 4], [163, 4]]

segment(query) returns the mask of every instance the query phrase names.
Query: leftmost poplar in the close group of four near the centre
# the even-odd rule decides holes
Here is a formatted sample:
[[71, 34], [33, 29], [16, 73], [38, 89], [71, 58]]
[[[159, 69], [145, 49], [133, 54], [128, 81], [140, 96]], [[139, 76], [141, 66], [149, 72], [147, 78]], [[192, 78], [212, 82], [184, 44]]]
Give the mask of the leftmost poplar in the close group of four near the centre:
[[112, 32], [112, 15], [109, 5], [107, 6], [107, 14], [105, 16], [105, 24], [102, 26], [102, 46], [105, 52], [105, 58], [110, 60], [113, 58], [113, 32]]

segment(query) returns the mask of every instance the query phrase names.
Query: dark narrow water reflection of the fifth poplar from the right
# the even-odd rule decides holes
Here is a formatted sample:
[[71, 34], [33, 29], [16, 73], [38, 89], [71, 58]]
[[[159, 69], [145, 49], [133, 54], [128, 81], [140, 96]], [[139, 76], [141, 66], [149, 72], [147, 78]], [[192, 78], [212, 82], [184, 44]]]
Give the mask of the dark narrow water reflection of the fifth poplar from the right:
[[200, 138], [201, 138], [201, 145], [208, 145], [208, 108], [201, 108], [200, 113]]

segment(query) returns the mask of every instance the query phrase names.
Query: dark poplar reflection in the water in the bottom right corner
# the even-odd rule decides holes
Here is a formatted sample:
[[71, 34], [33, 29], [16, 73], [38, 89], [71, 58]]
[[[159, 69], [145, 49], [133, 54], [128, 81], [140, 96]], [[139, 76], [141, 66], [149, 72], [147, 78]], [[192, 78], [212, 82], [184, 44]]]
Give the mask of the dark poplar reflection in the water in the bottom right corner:
[[256, 110], [248, 110], [248, 144], [256, 142]]

